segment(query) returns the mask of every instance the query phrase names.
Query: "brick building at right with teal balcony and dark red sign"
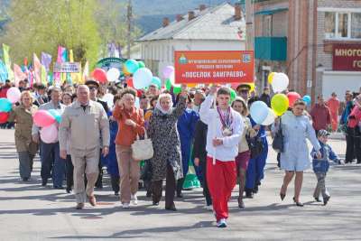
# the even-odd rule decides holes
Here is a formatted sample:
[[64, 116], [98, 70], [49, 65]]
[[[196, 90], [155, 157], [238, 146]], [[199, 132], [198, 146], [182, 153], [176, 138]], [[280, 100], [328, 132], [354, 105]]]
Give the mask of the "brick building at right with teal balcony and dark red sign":
[[358, 91], [361, 1], [263, 0], [254, 9], [259, 86], [266, 85], [270, 71], [282, 71], [301, 95]]

